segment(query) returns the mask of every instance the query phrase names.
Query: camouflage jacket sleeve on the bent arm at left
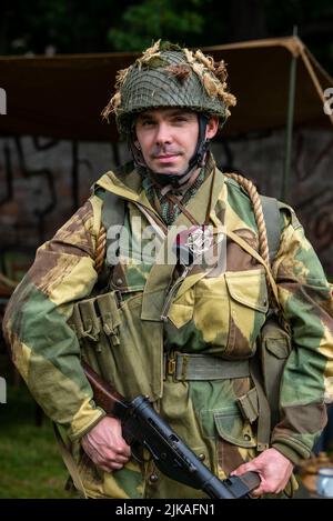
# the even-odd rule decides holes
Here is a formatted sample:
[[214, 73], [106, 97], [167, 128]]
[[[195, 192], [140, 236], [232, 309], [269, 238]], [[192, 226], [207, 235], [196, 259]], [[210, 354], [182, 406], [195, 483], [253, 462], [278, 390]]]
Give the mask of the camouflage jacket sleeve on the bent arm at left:
[[79, 343], [67, 323], [73, 301], [88, 295], [97, 281], [97, 201], [89, 200], [39, 248], [3, 321], [13, 362], [32, 395], [71, 439], [83, 435], [104, 414], [91, 400]]

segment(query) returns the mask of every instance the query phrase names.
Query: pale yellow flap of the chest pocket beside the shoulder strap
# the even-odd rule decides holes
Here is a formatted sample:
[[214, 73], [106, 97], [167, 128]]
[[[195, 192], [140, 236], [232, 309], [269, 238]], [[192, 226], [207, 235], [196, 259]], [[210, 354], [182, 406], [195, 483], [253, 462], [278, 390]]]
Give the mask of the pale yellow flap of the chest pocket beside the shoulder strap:
[[269, 298], [263, 270], [229, 271], [225, 280], [234, 300], [263, 313], [268, 311]]

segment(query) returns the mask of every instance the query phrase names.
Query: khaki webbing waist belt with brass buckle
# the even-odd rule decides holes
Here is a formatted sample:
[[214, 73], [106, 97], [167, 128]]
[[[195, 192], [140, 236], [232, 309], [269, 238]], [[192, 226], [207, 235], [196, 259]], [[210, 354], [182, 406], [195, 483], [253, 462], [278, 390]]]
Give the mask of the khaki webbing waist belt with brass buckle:
[[211, 354], [170, 351], [163, 355], [163, 375], [174, 380], [225, 380], [250, 377], [249, 360], [222, 360]]

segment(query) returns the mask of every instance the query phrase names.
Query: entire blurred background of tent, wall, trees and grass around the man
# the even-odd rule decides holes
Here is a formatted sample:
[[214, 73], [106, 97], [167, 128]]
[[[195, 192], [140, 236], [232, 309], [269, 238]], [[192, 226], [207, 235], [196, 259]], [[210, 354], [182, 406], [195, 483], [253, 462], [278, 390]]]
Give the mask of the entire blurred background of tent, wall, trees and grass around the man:
[[[129, 158], [100, 112], [115, 71], [159, 38], [225, 59], [239, 103], [218, 163], [295, 208], [333, 281], [331, 0], [2, 0], [0, 321], [36, 248]], [[68, 497], [51, 424], [2, 339], [0, 375], [0, 498]], [[315, 451], [333, 451], [332, 425]]]

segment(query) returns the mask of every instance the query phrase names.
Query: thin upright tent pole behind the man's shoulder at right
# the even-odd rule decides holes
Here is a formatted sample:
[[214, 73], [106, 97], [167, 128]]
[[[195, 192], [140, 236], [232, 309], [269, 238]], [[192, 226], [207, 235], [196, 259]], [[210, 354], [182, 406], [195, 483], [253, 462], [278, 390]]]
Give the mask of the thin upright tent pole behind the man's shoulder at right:
[[[294, 27], [293, 36], [297, 36], [297, 27]], [[285, 149], [284, 149], [284, 166], [282, 176], [281, 199], [287, 201], [291, 177], [291, 159], [292, 159], [292, 143], [293, 143], [293, 126], [294, 126], [294, 106], [295, 106], [295, 88], [296, 88], [296, 64], [297, 56], [293, 53], [290, 64], [289, 76], [289, 96], [287, 96], [287, 117], [285, 128]]]

